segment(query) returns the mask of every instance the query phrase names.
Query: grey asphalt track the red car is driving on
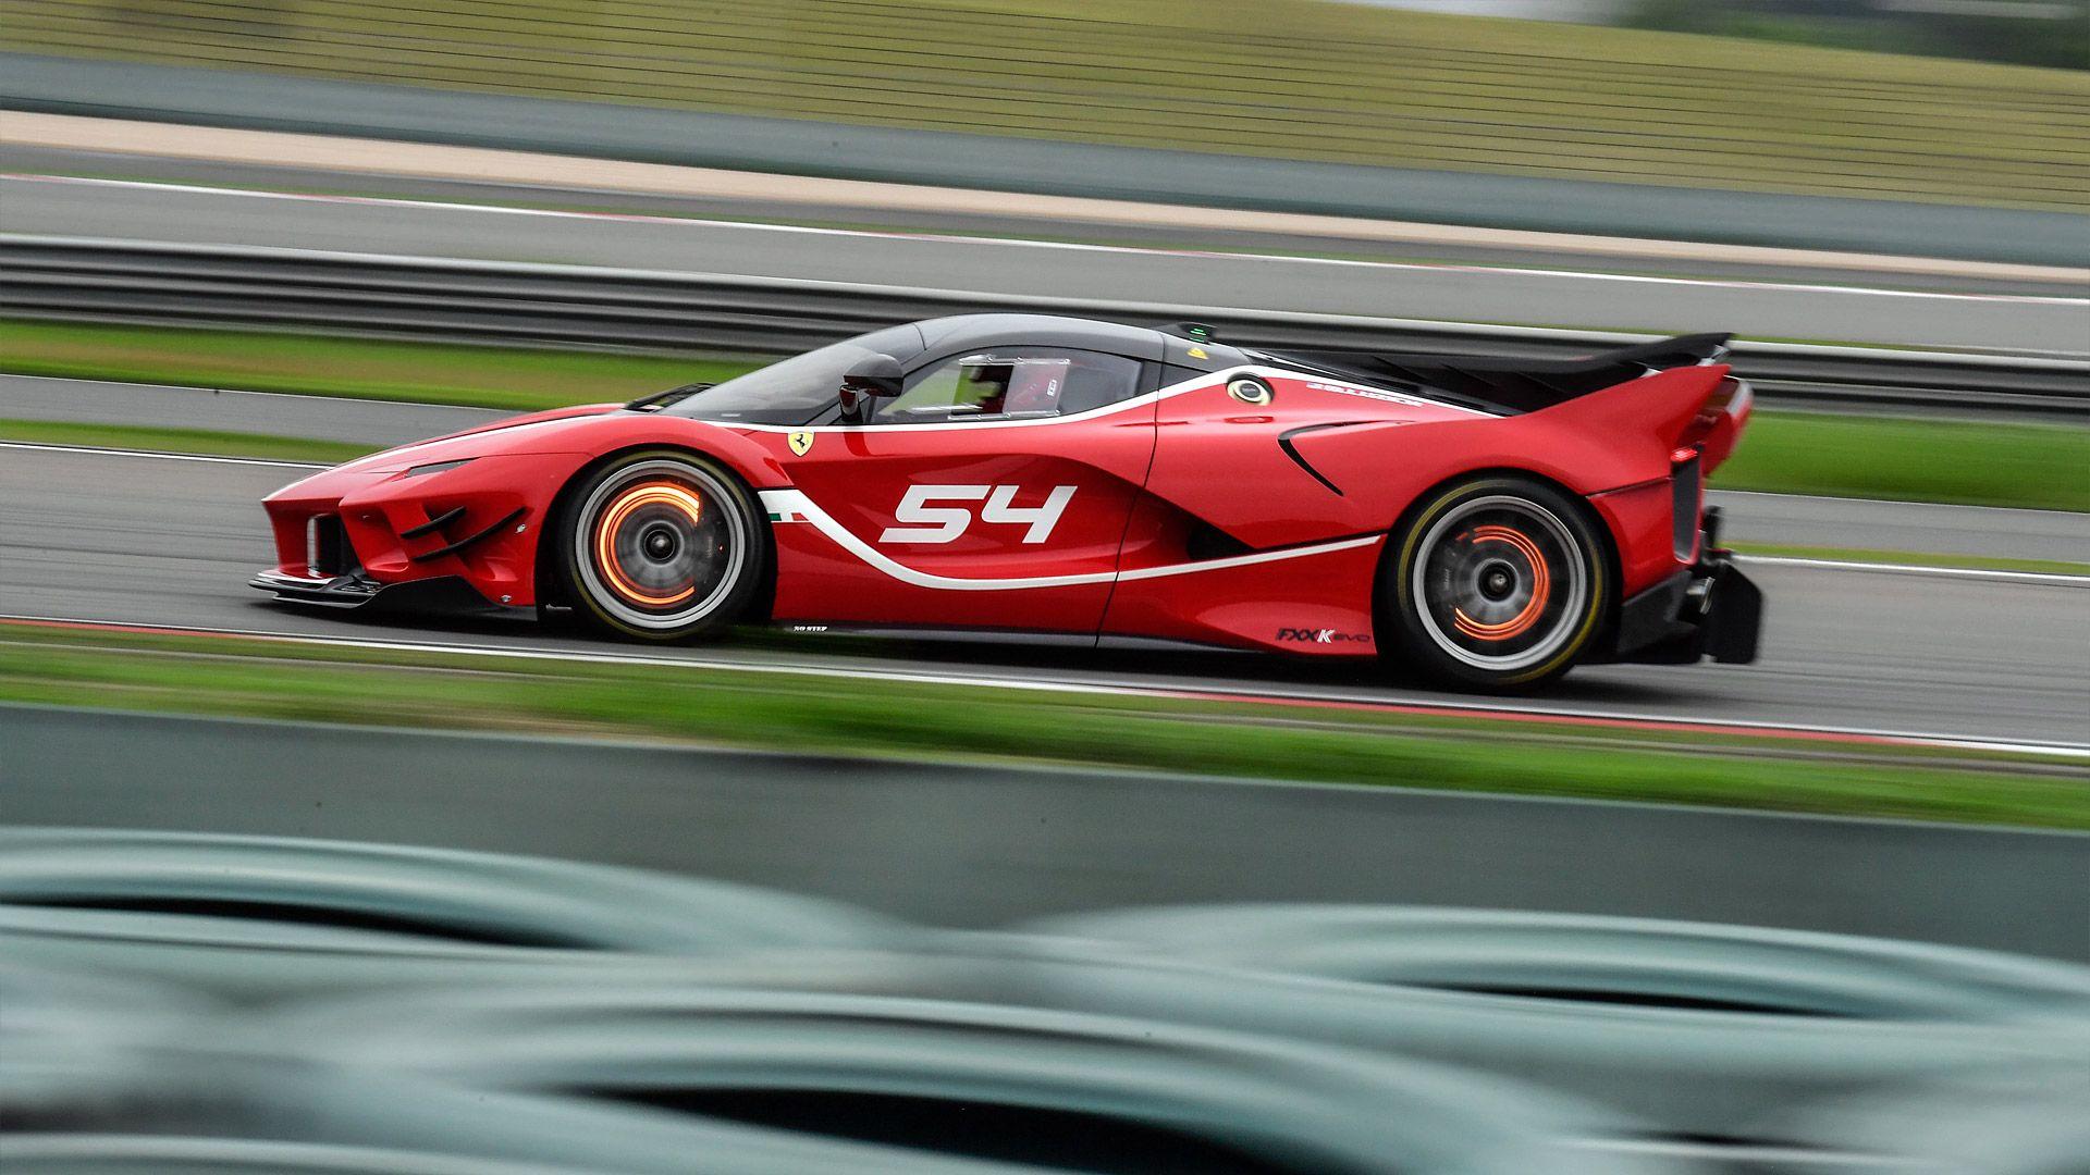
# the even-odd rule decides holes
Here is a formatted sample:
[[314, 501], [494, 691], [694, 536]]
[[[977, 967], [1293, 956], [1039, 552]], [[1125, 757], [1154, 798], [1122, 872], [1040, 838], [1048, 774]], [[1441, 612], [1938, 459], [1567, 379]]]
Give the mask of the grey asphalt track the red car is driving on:
[[[257, 500], [303, 470], [94, 452], [0, 450], [0, 613], [408, 638], [516, 648], [614, 650], [529, 623], [399, 621], [305, 613], [245, 588], [272, 562]], [[1879, 571], [1758, 567], [1770, 598], [1754, 667], [1601, 667], [1524, 702], [1770, 725], [1839, 725], [2084, 744], [2090, 590]], [[874, 654], [807, 642], [654, 650], [692, 661], [922, 669], [940, 673], [1313, 692], [1354, 700], [1453, 700], [1390, 686], [1365, 665], [1181, 654], [895, 646]]]

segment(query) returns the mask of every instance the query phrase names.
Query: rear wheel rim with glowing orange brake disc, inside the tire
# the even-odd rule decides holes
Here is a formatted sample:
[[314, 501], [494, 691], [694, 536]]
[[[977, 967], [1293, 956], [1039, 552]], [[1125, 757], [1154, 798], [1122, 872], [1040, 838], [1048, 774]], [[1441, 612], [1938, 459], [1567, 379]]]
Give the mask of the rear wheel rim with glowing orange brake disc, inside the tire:
[[1490, 671], [1536, 665], [1568, 644], [1588, 602], [1574, 531], [1536, 502], [1461, 502], [1423, 533], [1411, 581], [1423, 631]]

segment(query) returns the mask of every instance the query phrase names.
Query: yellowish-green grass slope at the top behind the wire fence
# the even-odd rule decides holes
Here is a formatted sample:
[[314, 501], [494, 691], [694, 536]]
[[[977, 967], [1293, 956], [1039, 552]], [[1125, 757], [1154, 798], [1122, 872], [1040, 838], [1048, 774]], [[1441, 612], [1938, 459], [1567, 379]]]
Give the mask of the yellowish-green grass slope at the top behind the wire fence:
[[17, 4], [0, 48], [1367, 165], [2086, 209], [2090, 75], [1331, 0]]

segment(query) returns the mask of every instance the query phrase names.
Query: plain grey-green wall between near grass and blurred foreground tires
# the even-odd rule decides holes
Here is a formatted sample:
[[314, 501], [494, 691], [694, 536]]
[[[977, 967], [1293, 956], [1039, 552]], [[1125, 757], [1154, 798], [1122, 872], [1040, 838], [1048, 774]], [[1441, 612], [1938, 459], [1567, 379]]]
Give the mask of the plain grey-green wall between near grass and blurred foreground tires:
[[539, 853], [945, 926], [1152, 901], [1404, 901], [2090, 958], [2090, 836], [2065, 832], [4, 705], [0, 746], [15, 824]]

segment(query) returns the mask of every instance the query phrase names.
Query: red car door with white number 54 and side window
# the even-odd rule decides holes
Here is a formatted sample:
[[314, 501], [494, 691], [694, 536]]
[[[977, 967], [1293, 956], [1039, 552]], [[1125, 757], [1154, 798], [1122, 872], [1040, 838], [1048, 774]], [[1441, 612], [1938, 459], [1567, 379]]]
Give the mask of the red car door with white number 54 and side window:
[[[1093, 636], [1154, 456], [1150, 360], [970, 345], [863, 424], [805, 429], [775, 617]], [[780, 562], [782, 567], [782, 562]]]

